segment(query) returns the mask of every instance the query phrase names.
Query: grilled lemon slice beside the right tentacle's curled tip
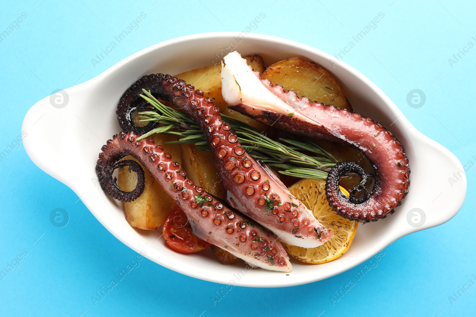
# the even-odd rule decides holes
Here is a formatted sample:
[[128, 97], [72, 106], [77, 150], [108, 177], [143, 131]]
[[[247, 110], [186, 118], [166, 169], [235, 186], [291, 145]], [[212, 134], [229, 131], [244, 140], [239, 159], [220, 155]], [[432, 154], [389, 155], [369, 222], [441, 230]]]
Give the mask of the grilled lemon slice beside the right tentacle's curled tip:
[[[339, 187], [348, 197], [349, 193]], [[347, 251], [357, 231], [357, 221], [337, 215], [329, 206], [325, 188], [326, 181], [314, 179], [303, 179], [289, 187], [289, 191], [312, 211], [322, 225], [334, 231], [334, 237], [317, 248], [306, 249], [283, 243], [291, 256], [306, 263], [321, 264], [337, 259]]]

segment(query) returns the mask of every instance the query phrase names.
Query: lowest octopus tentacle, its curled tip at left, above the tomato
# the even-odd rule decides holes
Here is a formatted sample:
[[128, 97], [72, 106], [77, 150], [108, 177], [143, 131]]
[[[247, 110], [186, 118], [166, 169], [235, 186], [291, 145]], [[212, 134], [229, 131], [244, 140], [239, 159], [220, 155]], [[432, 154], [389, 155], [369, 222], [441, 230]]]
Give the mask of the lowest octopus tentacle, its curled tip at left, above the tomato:
[[[138, 135], [133, 132], [127, 134], [121, 132], [114, 135], [112, 140], [108, 140], [102, 147], [96, 172], [105, 192], [113, 198], [118, 198], [118, 193], [122, 195], [132, 193], [120, 191], [115, 180], [112, 180], [112, 172], [119, 167], [117, 162], [126, 155], [132, 155], [180, 205], [198, 238], [227, 250], [253, 267], [291, 271], [288, 255], [272, 232], [261, 228], [240, 212], [230, 209], [205, 192], [202, 187], [194, 185], [193, 181], [187, 178], [187, 173], [180, 170], [178, 163], [172, 160], [171, 155], [164, 153], [163, 147], [156, 145], [154, 140], [136, 141], [137, 137]], [[135, 163], [126, 160], [121, 165], [139, 166], [137, 163], [134, 166], [131, 162]]]

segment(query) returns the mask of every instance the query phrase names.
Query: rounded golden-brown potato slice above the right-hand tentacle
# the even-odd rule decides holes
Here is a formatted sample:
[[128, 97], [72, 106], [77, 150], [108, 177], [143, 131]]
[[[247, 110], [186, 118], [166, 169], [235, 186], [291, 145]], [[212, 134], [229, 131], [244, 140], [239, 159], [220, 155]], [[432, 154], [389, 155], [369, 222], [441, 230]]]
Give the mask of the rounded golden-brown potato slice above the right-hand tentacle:
[[297, 96], [312, 101], [352, 110], [342, 87], [323, 67], [302, 58], [286, 58], [266, 68], [261, 74], [273, 85], [281, 85], [285, 91], [292, 90]]

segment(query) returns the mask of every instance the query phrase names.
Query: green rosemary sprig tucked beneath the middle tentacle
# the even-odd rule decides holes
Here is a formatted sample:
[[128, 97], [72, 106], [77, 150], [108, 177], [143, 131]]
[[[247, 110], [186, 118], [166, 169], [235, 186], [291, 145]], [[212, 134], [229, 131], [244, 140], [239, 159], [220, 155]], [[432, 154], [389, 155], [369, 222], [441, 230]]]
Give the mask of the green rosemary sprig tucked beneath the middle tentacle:
[[[176, 135], [180, 137], [180, 140], [166, 143], [195, 144], [199, 150], [210, 152], [205, 135], [192, 119], [176, 109], [163, 105], [149, 91], [145, 89], [142, 91], [144, 95], [140, 96], [158, 112], [139, 112], [140, 121], [154, 121], [161, 126], [143, 134], [138, 140], [155, 133]], [[251, 157], [277, 169], [279, 173], [298, 178], [325, 180], [327, 172], [337, 163], [332, 154], [317, 144], [297, 139], [290, 134], [287, 134], [288, 138], [279, 138], [278, 141], [275, 141], [235, 118], [224, 114], [220, 114], [220, 116], [231, 126], [231, 131], [237, 134], [238, 141]], [[304, 154], [303, 151], [312, 154]]]

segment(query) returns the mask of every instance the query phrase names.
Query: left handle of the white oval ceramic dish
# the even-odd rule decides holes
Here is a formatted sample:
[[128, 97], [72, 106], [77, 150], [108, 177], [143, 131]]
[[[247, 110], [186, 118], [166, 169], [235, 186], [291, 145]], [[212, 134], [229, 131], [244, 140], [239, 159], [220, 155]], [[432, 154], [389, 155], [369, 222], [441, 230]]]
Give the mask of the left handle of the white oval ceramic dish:
[[85, 135], [98, 143], [91, 145], [96, 152], [100, 149], [99, 140], [90, 137], [90, 134], [94, 136], [89, 128], [92, 123], [85, 120], [79, 108], [87, 101], [88, 83], [54, 90], [30, 108], [21, 127], [23, 144], [33, 163], [69, 187], [72, 185], [69, 180], [80, 178], [74, 172], [80, 169], [73, 166], [86, 163], [79, 162], [80, 146], [71, 143], [75, 139], [71, 134]]

